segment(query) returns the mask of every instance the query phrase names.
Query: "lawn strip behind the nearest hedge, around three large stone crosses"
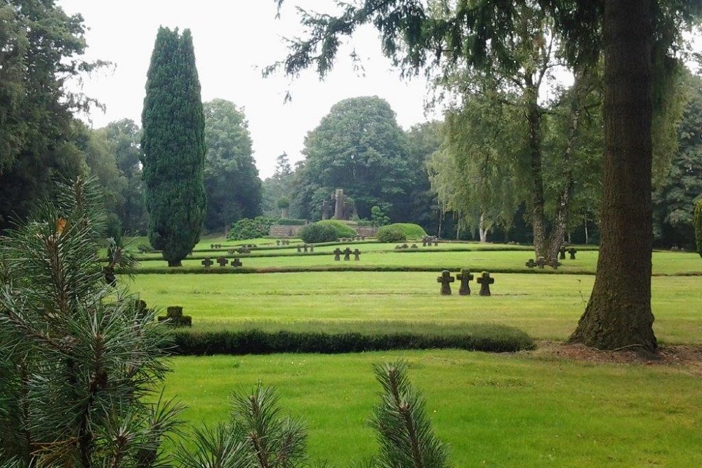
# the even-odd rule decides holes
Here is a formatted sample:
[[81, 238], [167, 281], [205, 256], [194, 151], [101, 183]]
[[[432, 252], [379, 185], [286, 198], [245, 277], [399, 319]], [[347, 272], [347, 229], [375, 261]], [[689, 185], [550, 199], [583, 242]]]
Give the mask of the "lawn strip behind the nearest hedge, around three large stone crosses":
[[[138, 274], [131, 290], [150, 307], [182, 305], [195, 328], [410, 328], [490, 323], [539, 340], [565, 340], [574, 330], [595, 276], [494, 274], [491, 297], [439, 295], [437, 273], [307, 272], [271, 274]], [[702, 343], [702, 279], [655, 276], [652, 307], [658, 340]]]

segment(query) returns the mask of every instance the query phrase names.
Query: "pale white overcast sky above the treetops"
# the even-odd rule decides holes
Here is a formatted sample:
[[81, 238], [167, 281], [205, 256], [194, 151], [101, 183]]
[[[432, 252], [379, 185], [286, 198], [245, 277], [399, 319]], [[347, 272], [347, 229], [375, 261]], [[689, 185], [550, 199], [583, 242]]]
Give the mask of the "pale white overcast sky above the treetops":
[[[364, 76], [353, 71], [348, 52], [340, 50], [325, 81], [313, 70], [298, 79], [281, 74], [263, 79], [260, 68], [286, 56], [283, 37], [302, 34], [294, 5], [319, 8], [329, 0], [286, 0], [275, 19], [274, 0], [58, 0], [67, 13], [81, 13], [89, 60], [109, 60], [114, 69], [84, 80], [83, 92], [107, 106], [91, 113], [94, 128], [132, 119], [141, 125], [146, 73], [159, 26], [190, 28], [204, 102], [222, 98], [244, 109], [260, 177], [272, 175], [275, 159], [287, 152], [292, 163], [308, 131], [331, 106], [345, 98], [378, 95], [390, 103], [403, 128], [427, 120], [425, 80], [406, 82], [380, 54], [373, 29], [354, 36], [352, 47], [364, 58]], [[290, 90], [292, 102], [284, 104]]]

